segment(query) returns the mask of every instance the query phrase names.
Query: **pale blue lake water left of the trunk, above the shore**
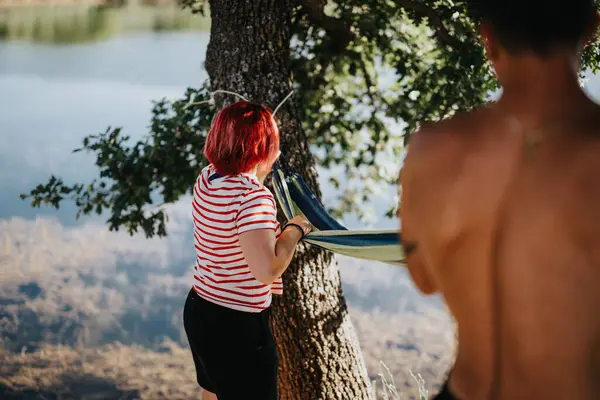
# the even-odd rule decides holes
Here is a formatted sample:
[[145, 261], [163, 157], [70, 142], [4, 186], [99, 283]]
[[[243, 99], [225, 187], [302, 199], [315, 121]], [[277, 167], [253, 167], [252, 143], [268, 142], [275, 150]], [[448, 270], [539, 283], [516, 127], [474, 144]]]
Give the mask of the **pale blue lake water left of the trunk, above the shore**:
[[51, 174], [66, 182], [97, 175], [93, 158], [71, 153], [84, 136], [122, 126], [148, 132], [151, 102], [177, 98], [206, 79], [208, 34], [146, 32], [71, 46], [0, 42], [0, 219], [58, 215], [18, 198]]

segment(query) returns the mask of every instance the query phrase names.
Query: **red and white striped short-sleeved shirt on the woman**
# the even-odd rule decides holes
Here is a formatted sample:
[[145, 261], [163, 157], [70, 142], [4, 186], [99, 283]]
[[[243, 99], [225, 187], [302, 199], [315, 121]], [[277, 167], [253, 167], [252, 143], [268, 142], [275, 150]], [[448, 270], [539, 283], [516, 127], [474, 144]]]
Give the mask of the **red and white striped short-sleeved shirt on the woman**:
[[279, 235], [275, 199], [254, 175], [216, 175], [211, 180], [215, 173], [212, 165], [204, 168], [194, 186], [194, 289], [221, 306], [260, 312], [271, 305], [272, 294], [282, 294], [283, 284], [281, 278], [272, 285], [254, 278], [239, 234], [273, 229]]

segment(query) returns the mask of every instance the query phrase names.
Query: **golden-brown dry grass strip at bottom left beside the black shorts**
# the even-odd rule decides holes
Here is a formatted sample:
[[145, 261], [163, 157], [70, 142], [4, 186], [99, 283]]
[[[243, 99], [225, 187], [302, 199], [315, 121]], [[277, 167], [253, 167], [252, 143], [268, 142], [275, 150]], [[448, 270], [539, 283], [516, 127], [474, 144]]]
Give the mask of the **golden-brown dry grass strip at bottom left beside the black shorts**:
[[200, 399], [194, 377], [188, 350], [174, 343], [163, 352], [120, 344], [0, 352], [2, 398]]

